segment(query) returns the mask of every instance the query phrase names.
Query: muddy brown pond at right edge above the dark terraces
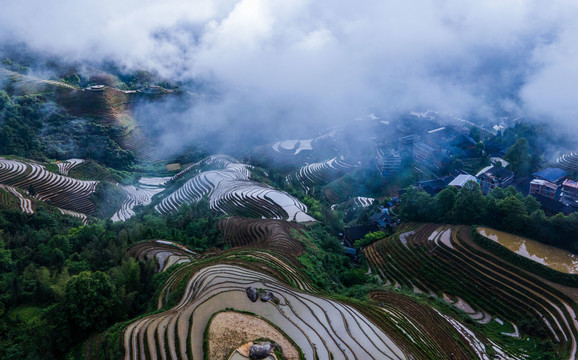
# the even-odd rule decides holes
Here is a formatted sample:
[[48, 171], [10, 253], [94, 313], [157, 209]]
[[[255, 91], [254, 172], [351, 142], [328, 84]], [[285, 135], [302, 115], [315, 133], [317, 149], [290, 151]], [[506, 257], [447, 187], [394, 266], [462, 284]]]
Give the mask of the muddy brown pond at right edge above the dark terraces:
[[566, 250], [493, 229], [479, 228], [478, 231], [516, 254], [561, 272], [578, 273], [578, 257]]

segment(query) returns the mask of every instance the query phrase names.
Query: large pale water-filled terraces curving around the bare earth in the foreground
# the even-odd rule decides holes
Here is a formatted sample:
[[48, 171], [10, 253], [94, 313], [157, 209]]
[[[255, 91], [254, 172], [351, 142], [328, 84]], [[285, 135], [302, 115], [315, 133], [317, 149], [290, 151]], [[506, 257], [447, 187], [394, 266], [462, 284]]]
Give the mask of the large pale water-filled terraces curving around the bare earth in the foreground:
[[[272, 292], [277, 301], [253, 302], [246, 294], [248, 287]], [[227, 308], [274, 323], [308, 359], [407, 359], [398, 345], [354, 307], [232, 265], [198, 269], [175, 307], [131, 323], [125, 330], [125, 359], [202, 359], [205, 328], [213, 314]]]

